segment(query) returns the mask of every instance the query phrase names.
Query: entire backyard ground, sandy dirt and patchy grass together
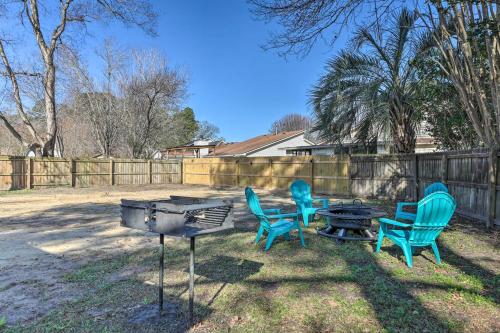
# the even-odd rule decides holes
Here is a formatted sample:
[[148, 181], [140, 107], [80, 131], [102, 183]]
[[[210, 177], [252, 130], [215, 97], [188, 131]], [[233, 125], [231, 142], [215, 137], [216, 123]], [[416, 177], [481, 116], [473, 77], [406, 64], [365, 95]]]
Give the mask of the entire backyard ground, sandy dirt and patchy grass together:
[[[267, 207], [293, 209], [258, 192]], [[165, 295], [154, 313], [158, 237], [119, 225], [119, 200], [170, 194], [226, 197], [236, 228], [197, 240], [195, 317], [186, 326], [189, 243], [167, 241]], [[393, 207], [378, 202], [393, 212]], [[453, 220], [409, 269], [384, 242], [338, 245], [305, 230], [269, 253], [254, 244], [243, 190], [126, 186], [0, 193], [0, 331], [5, 332], [498, 332], [499, 232]], [[390, 213], [391, 214], [391, 213]], [[295, 235], [296, 236], [296, 235]]]

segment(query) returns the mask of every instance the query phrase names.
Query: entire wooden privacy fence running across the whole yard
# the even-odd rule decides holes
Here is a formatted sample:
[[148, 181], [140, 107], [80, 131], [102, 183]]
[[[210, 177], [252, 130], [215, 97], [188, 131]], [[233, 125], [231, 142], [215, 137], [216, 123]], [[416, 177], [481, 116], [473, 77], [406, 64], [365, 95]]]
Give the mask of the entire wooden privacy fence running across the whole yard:
[[416, 201], [435, 181], [457, 213], [500, 225], [497, 150], [351, 157], [294, 156], [179, 160], [0, 156], [0, 190], [46, 186], [185, 183], [288, 189], [297, 178], [317, 194]]

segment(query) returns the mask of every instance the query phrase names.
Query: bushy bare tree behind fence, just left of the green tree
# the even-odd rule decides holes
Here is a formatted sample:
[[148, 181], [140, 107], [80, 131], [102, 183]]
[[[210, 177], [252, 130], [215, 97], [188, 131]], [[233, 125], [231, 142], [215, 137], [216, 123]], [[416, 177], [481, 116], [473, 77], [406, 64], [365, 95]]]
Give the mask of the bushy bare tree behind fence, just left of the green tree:
[[186, 93], [186, 78], [156, 50], [134, 51], [122, 82], [125, 142], [133, 157], [151, 157], [167, 134], [169, 112]]

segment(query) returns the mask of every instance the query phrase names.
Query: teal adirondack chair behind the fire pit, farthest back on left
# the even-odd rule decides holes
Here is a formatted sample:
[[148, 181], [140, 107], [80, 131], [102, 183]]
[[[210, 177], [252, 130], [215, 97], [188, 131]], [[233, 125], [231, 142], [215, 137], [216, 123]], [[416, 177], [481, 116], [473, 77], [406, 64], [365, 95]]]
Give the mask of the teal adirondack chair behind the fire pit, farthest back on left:
[[[290, 192], [297, 206], [297, 213], [302, 215], [302, 221], [306, 227], [309, 225], [310, 217], [314, 218], [318, 209], [328, 208], [328, 198], [313, 198], [311, 186], [302, 179], [297, 179], [290, 185]], [[320, 202], [321, 207], [314, 207], [315, 202]]]

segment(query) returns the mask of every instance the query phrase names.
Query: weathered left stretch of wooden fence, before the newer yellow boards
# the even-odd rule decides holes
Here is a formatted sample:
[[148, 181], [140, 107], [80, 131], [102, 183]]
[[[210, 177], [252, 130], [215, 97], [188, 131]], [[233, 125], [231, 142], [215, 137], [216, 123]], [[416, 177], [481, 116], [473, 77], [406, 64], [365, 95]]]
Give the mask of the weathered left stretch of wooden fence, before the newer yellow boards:
[[180, 160], [0, 156], [0, 190], [181, 182]]

